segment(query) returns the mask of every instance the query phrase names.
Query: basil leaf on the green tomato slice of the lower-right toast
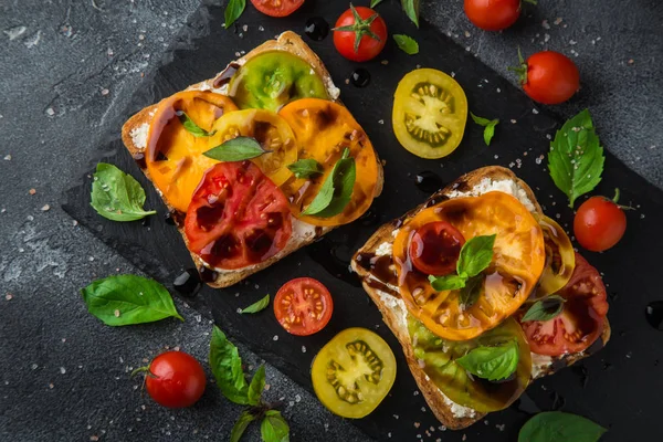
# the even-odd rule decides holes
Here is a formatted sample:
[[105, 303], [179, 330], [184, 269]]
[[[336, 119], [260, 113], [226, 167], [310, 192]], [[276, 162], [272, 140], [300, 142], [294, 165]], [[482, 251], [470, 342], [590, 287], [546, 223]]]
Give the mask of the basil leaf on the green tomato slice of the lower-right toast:
[[496, 347], [476, 347], [456, 362], [482, 379], [501, 380], [516, 371], [519, 355], [518, 343], [509, 340]]

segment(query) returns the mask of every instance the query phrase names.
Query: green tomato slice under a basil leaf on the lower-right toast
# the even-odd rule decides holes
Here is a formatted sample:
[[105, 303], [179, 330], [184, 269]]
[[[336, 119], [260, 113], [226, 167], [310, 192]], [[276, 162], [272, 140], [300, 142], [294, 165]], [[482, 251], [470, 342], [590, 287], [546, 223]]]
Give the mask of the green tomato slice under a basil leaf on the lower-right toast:
[[[464, 341], [442, 339], [412, 315], [408, 329], [423, 371], [455, 403], [480, 412], [503, 410], [525, 391], [532, 375], [529, 346], [518, 323], [508, 318], [477, 338]], [[518, 368], [506, 380], [491, 382], [465, 371], [456, 360], [478, 346], [496, 346], [516, 340], [519, 348]]]

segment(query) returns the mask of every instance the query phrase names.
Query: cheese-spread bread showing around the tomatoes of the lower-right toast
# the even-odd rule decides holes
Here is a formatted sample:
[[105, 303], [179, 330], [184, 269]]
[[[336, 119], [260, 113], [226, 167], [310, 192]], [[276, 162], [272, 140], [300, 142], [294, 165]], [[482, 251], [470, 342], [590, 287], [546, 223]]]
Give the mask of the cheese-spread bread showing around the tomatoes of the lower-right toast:
[[[444, 393], [425, 375], [413, 354], [411, 337], [406, 323], [407, 308], [402, 299], [400, 299], [398, 287], [387, 281], [380, 281], [379, 277], [371, 273], [369, 269], [366, 267], [366, 259], [367, 256], [390, 256], [390, 254], [385, 254], [382, 251], [385, 249], [390, 250], [390, 244], [392, 244], [394, 240], [394, 230], [407, 223], [421, 210], [434, 204], [435, 201], [466, 194], [481, 194], [488, 190], [507, 191], [518, 198], [533, 213], [543, 214], [541, 208], [536, 201], [536, 197], [529, 186], [518, 179], [518, 177], [509, 169], [488, 166], [464, 175], [444, 189], [434, 193], [425, 203], [409, 211], [401, 218], [382, 225], [357, 252], [351, 262], [352, 270], [362, 280], [364, 288], [378, 306], [385, 323], [387, 323], [391, 332], [400, 341], [410, 371], [431, 410], [445, 427], [454, 430], [473, 424], [481, 420], [486, 413], [477, 412], [454, 403], [444, 396]], [[381, 267], [385, 269], [385, 266]], [[383, 271], [385, 270], [382, 270], [382, 272]], [[566, 355], [557, 359], [545, 356], [533, 358], [533, 378], [536, 379], [550, 375], [560, 368], [589, 356], [589, 354], [606, 345], [609, 338], [610, 324], [608, 323], [608, 319], [606, 319], [601, 339], [586, 351]]]

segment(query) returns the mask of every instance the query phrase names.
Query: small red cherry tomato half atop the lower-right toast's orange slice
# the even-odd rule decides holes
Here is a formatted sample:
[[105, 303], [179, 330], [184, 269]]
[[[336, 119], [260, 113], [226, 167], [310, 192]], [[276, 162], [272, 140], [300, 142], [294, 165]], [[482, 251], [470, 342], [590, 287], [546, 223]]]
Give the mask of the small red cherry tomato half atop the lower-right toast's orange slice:
[[456, 270], [463, 244], [465, 238], [449, 222], [429, 222], [414, 231], [410, 240], [410, 260], [428, 275], [446, 275]]

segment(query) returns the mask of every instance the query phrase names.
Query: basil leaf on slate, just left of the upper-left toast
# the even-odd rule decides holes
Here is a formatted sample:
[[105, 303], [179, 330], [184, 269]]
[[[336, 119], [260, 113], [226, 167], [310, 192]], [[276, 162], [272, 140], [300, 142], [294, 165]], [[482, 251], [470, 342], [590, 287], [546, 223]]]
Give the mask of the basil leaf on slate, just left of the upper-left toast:
[[156, 210], [143, 210], [145, 190], [140, 183], [106, 162], [97, 165], [90, 196], [94, 210], [112, 221], [136, 221], [157, 213]]

